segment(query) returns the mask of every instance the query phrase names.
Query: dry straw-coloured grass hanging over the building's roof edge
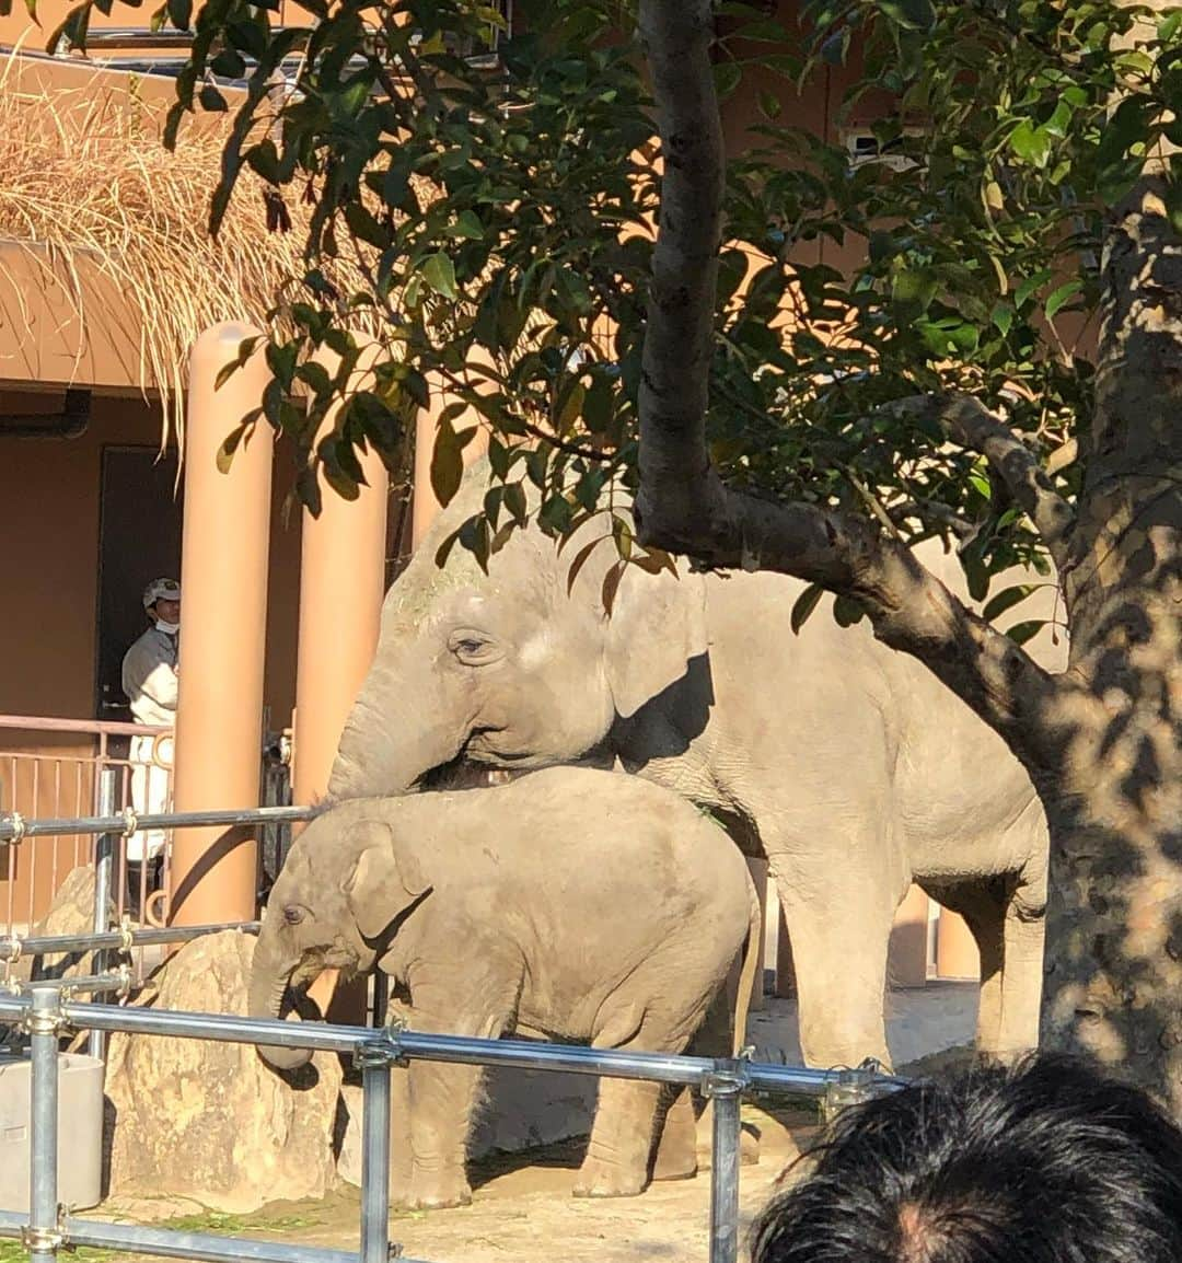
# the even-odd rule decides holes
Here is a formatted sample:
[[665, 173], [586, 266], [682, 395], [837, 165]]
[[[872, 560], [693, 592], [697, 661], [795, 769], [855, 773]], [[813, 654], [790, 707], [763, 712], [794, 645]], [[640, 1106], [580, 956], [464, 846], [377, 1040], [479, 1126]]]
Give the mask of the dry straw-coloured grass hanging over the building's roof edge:
[[290, 207], [292, 231], [269, 232], [261, 182], [245, 172], [213, 241], [206, 218], [227, 116], [191, 124], [170, 153], [158, 85], [149, 93], [135, 76], [83, 72], [77, 87], [45, 86], [33, 64], [13, 54], [0, 67], [0, 240], [25, 246], [47, 287], [64, 284], [83, 330], [83, 260], [114, 283], [138, 331], [139, 384], [164, 404], [162, 446], [170, 427], [179, 443], [189, 347], [220, 321], [266, 327], [301, 273], [306, 211]]

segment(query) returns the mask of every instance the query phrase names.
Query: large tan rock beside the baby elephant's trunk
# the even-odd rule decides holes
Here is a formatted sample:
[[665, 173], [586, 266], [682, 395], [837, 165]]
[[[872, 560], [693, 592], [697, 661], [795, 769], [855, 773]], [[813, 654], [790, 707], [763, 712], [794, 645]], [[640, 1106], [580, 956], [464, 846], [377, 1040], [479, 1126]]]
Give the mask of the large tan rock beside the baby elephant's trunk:
[[[153, 1007], [245, 1015], [254, 946], [237, 931], [187, 943], [155, 974]], [[335, 1056], [288, 1081], [250, 1045], [112, 1036], [110, 1192], [236, 1212], [321, 1197], [336, 1182], [340, 1087]]]

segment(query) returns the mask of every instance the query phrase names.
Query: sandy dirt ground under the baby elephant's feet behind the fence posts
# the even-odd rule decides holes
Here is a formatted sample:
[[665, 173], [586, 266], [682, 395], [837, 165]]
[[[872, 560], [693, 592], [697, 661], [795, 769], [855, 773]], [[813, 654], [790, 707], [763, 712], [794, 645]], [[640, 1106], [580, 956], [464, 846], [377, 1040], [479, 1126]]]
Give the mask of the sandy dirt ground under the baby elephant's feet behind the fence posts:
[[[816, 1132], [816, 1114], [744, 1106], [760, 1132], [760, 1161], [743, 1167], [740, 1234], [745, 1238], [783, 1170]], [[470, 1170], [472, 1205], [442, 1211], [395, 1211], [390, 1240], [409, 1260], [432, 1263], [705, 1263], [710, 1253], [710, 1175], [657, 1183], [640, 1197], [582, 1200], [571, 1196], [581, 1159], [578, 1140], [515, 1154], [498, 1154]], [[359, 1192], [345, 1186], [323, 1201], [273, 1202], [254, 1215], [218, 1215], [177, 1202], [107, 1202], [104, 1219], [155, 1221], [188, 1228], [356, 1249]], [[92, 1212], [95, 1214], [95, 1212]], [[745, 1250], [743, 1258], [746, 1257]], [[110, 1257], [109, 1257], [110, 1258]]]

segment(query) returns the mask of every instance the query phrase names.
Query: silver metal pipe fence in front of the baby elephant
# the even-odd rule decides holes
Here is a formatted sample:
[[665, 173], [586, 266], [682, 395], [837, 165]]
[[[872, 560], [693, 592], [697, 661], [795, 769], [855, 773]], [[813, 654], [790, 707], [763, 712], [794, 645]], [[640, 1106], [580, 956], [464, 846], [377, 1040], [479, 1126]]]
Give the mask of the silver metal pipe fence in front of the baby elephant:
[[[133, 823], [165, 829], [261, 825], [308, 820], [314, 815], [313, 808], [270, 807], [255, 811], [145, 815], [133, 822], [112, 815], [24, 820], [16, 813], [9, 813], [0, 816], [0, 844], [11, 845], [27, 837], [73, 832], [110, 837], [120, 830], [130, 829]], [[98, 855], [102, 863], [101, 847]], [[101, 875], [98, 884], [101, 885]], [[192, 937], [194, 932], [213, 928], [218, 927], [140, 933]], [[117, 933], [96, 932], [73, 936], [69, 942], [75, 947], [101, 949], [115, 946], [111, 942], [115, 937]], [[52, 943], [54, 949], [61, 949], [63, 942], [63, 938], [45, 940], [42, 946]], [[754, 1090], [818, 1099], [840, 1098], [847, 1103], [870, 1091], [899, 1084], [899, 1080], [871, 1071], [823, 1071], [759, 1065], [737, 1058], [667, 1056], [520, 1039], [426, 1034], [393, 1026], [375, 1029], [210, 1013], [160, 1012], [76, 1003], [63, 995], [63, 991], [71, 990], [110, 990], [115, 983], [114, 975], [104, 974], [101, 966], [96, 966], [96, 976], [92, 978], [35, 983], [25, 988], [24, 994], [0, 995], [0, 1022], [20, 1024], [28, 1032], [32, 1045], [29, 1214], [0, 1211], [0, 1238], [18, 1238], [28, 1249], [30, 1259], [40, 1263], [57, 1259], [59, 1250], [80, 1245], [167, 1258], [207, 1259], [211, 1263], [231, 1259], [258, 1263], [389, 1263], [391, 1257], [400, 1254], [389, 1242], [390, 1072], [394, 1066], [405, 1066], [415, 1060], [566, 1071], [697, 1089], [713, 1104], [710, 1263], [735, 1263], [739, 1252], [740, 1105], [744, 1092]], [[130, 1034], [352, 1055], [362, 1079], [361, 1236], [357, 1253], [107, 1224], [67, 1214], [58, 1204], [57, 1190], [58, 1046], [67, 1029], [90, 1031], [92, 1041], [100, 1043], [107, 1032], [122, 1031]]]

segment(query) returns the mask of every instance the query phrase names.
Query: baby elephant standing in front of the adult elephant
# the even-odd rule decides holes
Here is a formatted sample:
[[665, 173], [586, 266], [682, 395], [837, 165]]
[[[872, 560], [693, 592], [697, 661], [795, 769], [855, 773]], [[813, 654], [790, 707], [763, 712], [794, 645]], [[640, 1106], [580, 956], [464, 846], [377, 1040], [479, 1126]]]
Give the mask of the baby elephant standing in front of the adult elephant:
[[[250, 1012], [274, 1017], [289, 986], [376, 962], [409, 995], [414, 1031], [677, 1053], [745, 947], [741, 1041], [758, 932], [746, 863], [696, 807], [636, 777], [553, 768], [317, 817], [272, 890]], [[261, 1052], [279, 1068], [308, 1060]], [[391, 1195], [463, 1205], [479, 1070], [417, 1061], [405, 1079], [409, 1124], [405, 1109], [391, 1111]], [[659, 1098], [657, 1084], [601, 1080], [577, 1195], [642, 1191]], [[690, 1137], [678, 1173], [693, 1170], [692, 1127]]]

